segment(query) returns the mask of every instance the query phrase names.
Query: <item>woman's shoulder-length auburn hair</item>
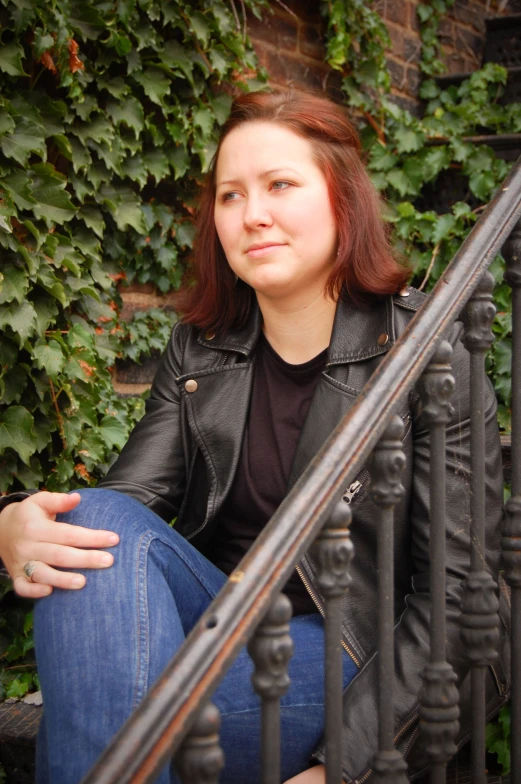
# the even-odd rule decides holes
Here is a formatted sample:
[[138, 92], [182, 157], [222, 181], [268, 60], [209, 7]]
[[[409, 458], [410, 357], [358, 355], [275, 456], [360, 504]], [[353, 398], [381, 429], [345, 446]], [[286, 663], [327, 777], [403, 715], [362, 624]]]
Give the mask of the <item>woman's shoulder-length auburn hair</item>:
[[345, 110], [322, 96], [300, 90], [241, 95], [230, 116], [204, 183], [196, 220], [193, 280], [175, 298], [183, 321], [223, 332], [241, 327], [254, 302], [253, 289], [236, 281], [214, 223], [215, 171], [224, 139], [251, 122], [282, 125], [307, 139], [322, 170], [338, 231], [338, 253], [326, 283], [337, 299], [347, 294], [358, 306], [394, 294], [410, 276], [391, 247], [382, 218], [382, 201], [361, 161], [361, 145]]

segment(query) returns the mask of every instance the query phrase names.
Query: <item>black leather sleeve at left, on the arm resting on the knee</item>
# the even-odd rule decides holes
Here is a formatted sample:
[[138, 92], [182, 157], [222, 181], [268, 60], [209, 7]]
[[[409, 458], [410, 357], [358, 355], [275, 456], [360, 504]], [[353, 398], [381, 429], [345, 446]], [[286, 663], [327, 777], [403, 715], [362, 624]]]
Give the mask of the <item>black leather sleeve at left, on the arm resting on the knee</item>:
[[186, 463], [181, 433], [181, 374], [183, 335], [176, 324], [155, 375], [145, 414], [121, 454], [98, 487], [118, 490], [141, 501], [167, 522], [175, 518], [183, 499]]

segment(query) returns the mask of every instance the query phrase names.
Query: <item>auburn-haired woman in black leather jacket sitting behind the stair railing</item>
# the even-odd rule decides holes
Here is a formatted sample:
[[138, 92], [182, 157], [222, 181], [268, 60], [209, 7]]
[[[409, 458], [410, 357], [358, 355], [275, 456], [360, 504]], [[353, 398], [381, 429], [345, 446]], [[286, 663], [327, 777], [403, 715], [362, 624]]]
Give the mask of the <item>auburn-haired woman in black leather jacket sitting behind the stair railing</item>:
[[[359, 153], [343, 110], [326, 99], [237, 99], [201, 198], [196, 283], [180, 299], [184, 318], [145, 417], [100, 489], [7, 499], [17, 503], [0, 514], [0, 554], [20, 595], [46, 597], [35, 616], [40, 784], [73, 784], [92, 765], [421, 303], [403, 288], [408, 270], [390, 250]], [[452, 342], [465, 382], [457, 331]], [[447, 428], [447, 643], [463, 685], [466, 389], [458, 384]], [[497, 574], [501, 462], [487, 394], [487, 559]], [[399, 413], [408, 463], [396, 510], [395, 693], [397, 735], [409, 750], [428, 656], [428, 432], [416, 393]], [[375, 510], [364, 482], [356, 500], [346, 495], [356, 504], [343, 617], [346, 781], [365, 775], [377, 747]], [[174, 518], [173, 529], [165, 525]], [[282, 777], [320, 784], [323, 626], [309, 557], [285, 590], [295, 655], [282, 700]], [[215, 694], [229, 784], [258, 780], [250, 675], [243, 651]], [[500, 665], [494, 675], [503, 686]], [[501, 697], [489, 680], [492, 709]], [[160, 780], [172, 779], [164, 771]]]

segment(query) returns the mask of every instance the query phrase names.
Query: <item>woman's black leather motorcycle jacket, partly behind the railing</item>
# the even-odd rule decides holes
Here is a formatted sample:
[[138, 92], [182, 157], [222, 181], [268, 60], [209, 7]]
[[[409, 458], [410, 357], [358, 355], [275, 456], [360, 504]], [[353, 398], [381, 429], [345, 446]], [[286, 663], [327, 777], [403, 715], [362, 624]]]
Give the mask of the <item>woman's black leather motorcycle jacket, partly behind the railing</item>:
[[[382, 356], [391, 348], [424, 299], [389, 297], [361, 311], [341, 301], [336, 313], [327, 367], [316, 388], [291, 472], [290, 486], [350, 408]], [[248, 324], [225, 336], [202, 333], [184, 324], [174, 327], [155, 377], [146, 415], [100, 486], [142, 501], [196, 546], [229, 493], [237, 469], [248, 415], [254, 348], [261, 329], [255, 310]], [[468, 355], [457, 335], [454, 344], [454, 416], [447, 427], [447, 651], [462, 693], [463, 739], [468, 733], [469, 678], [457, 618], [461, 581], [469, 570], [469, 392]], [[384, 343], [383, 335], [388, 337]], [[381, 345], [384, 343], [384, 345]], [[425, 766], [416, 738], [421, 672], [428, 661], [429, 637], [429, 436], [412, 390], [398, 412], [405, 423], [403, 476], [405, 497], [395, 514], [395, 715], [398, 746], [406, 753], [409, 775]], [[502, 513], [502, 467], [496, 404], [487, 385], [487, 563], [497, 577]], [[370, 777], [377, 748], [376, 670], [376, 508], [367, 492], [367, 472], [353, 498], [353, 581], [345, 600], [344, 642], [360, 667], [344, 695], [344, 775], [347, 781]], [[358, 487], [358, 486], [357, 486]], [[301, 569], [320, 604], [314, 565], [306, 556]], [[502, 655], [490, 668], [489, 714], [505, 701], [508, 659], [505, 646], [508, 612], [502, 599]], [[504, 650], [503, 650], [504, 649]], [[323, 759], [317, 749], [316, 758]]]

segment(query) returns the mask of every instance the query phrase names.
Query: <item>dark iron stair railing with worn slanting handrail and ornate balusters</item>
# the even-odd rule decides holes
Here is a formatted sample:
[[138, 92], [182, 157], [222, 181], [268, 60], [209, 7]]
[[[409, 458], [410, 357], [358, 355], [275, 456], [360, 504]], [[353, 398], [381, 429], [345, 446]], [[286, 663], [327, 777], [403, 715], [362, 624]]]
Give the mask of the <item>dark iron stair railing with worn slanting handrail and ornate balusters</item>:
[[[288, 685], [289, 608], [280, 590], [294, 564], [313, 546], [324, 600], [326, 636], [326, 776], [341, 781], [342, 638], [340, 604], [348, 590], [352, 556], [349, 506], [338, 503], [372, 457], [371, 492], [381, 507], [378, 533], [380, 731], [371, 781], [403, 784], [406, 765], [394, 746], [392, 673], [393, 507], [400, 497], [401, 420], [393, 413], [420, 380], [431, 449], [431, 656], [420, 705], [430, 743], [431, 781], [445, 781], [455, 752], [458, 691], [445, 654], [445, 423], [453, 379], [451, 346], [443, 340], [463, 316], [471, 356], [471, 553], [463, 588], [461, 627], [472, 680], [472, 782], [485, 781], [486, 667], [495, 655], [497, 586], [485, 568], [484, 407], [485, 352], [491, 345], [492, 278], [486, 268], [503, 246], [505, 279], [513, 294], [512, 496], [502, 537], [504, 576], [512, 603], [512, 774], [521, 784], [521, 159], [484, 211], [430, 297], [382, 360], [354, 406], [338, 424], [270, 523], [200, 618], [182, 648], [100, 757], [84, 784], [151, 782], [175, 755], [183, 782], [217, 782], [223, 764], [213, 690], [249, 638], [254, 686], [262, 700], [262, 781], [279, 782], [278, 703]], [[517, 224], [517, 225], [516, 225]], [[514, 228], [515, 227], [515, 228]], [[508, 242], [505, 242], [508, 239]], [[423, 376], [422, 376], [423, 373]], [[317, 538], [318, 537], [318, 538]], [[314, 540], [316, 542], [313, 544]], [[355, 554], [356, 558], [356, 554]], [[252, 637], [253, 634], [253, 637]], [[274, 657], [275, 650], [286, 654]], [[516, 742], [517, 741], [517, 742]]]

